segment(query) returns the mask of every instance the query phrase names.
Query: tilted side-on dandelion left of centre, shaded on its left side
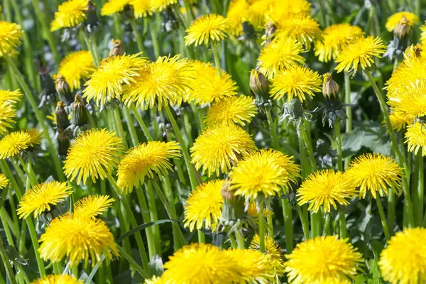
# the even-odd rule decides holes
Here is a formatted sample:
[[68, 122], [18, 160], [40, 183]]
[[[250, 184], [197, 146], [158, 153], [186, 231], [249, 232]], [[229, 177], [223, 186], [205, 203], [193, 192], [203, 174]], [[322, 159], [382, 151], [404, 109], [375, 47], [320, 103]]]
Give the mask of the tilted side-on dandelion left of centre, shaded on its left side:
[[150, 141], [131, 148], [121, 159], [117, 171], [117, 185], [126, 192], [145, 182], [145, 178], [167, 175], [173, 170], [168, 159], [180, 158], [178, 142]]

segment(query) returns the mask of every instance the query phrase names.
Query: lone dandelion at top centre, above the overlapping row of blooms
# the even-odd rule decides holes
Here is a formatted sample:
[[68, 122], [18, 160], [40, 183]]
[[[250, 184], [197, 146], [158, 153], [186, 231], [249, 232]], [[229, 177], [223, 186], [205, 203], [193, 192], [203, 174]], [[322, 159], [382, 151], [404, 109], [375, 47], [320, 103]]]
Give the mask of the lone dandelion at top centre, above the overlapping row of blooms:
[[212, 45], [226, 38], [228, 30], [226, 18], [216, 14], [203, 15], [187, 28], [185, 45]]

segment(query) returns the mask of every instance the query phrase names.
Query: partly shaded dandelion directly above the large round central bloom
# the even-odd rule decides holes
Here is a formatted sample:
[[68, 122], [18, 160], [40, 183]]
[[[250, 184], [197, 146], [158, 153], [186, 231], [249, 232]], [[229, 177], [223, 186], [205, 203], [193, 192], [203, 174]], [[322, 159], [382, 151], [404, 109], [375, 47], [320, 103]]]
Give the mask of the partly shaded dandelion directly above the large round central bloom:
[[207, 126], [217, 124], [239, 124], [245, 126], [256, 115], [254, 98], [239, 96], [229, 97], [220, 102], [215, 102], [207, 111], [204, 124]]

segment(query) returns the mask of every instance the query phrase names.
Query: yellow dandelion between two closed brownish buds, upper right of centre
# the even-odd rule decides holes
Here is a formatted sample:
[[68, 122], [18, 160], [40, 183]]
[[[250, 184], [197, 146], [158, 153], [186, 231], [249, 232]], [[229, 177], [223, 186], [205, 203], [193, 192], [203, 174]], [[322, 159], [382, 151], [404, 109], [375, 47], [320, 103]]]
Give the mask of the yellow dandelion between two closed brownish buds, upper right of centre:
[[322, 80], [318, 72], [307, 67], [295, 66], [288, 70], [277, 72], [272, 79], [270, 91], [273, 99], [281, 99], [287, 95], [287, 101], [297, 98], [300, 102], [307, 97], [312, 99], [314, 92], [321, 92]]

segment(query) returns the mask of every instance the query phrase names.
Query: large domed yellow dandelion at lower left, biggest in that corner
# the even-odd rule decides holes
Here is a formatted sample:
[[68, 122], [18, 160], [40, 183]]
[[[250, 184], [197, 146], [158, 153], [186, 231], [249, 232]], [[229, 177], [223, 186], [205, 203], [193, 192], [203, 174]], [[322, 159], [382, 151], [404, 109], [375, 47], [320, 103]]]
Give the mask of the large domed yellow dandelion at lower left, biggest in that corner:
[[50, 222], [39, 241], [43, 260], [58, 262], [67, 256], [70, 266], [84, 261], [87, 267], [89, 259], [94, 266], [102, 261], [102, 255], [107, 262], [119, 256], [114, 236], [100, 219], [62, 215]]

